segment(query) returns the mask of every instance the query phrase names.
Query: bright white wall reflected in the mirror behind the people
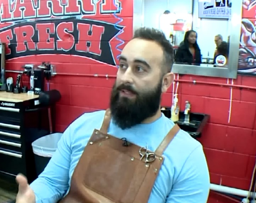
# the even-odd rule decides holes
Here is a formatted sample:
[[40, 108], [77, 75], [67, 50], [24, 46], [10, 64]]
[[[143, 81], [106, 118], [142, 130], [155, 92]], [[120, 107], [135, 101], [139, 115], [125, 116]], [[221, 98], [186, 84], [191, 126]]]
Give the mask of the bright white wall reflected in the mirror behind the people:
[[[141, 1], [141, 0], [134, 0]], [[144, 2], [143, 26], [159, 28], [160, 15], [169, 10], [175, 13], [192, 13], [192, 0], [142, 0]], [[221, 34], [224, 41], [229, 35], [229, 22], [226, 19], [199, 19], [198, 0], [194, 0], [193, 29], [198, 34], [197, 43], [206, 58], [209, 51], [210, 58], [213, 58], [216, 45], [214, 36]], [[136, 9], [137, 10], [137, 9]], [[138, 22], [137, 22], [138, 24]]]

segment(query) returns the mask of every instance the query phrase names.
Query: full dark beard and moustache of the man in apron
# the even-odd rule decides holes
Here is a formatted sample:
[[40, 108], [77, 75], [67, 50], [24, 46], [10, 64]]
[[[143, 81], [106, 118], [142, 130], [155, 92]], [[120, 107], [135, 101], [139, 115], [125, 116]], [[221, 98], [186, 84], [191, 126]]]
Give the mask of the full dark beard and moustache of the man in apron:
[[[128, 90], [135, 98], [120, 97], [120, 91]], [[131, 85], [121, 84], [112, 88], [110, 109], [113, 122], [121, 129], [131, 128], [156, 114], [160, 107], [162, 80], [150, 91], [137, 92]]]

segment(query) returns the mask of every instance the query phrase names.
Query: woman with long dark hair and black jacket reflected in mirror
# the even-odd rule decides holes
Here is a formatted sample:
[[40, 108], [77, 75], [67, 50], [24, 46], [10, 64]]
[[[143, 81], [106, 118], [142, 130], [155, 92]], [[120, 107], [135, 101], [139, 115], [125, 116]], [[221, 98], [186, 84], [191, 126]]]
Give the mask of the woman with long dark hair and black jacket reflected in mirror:
[[197, 33], [194, 30], [185, 33], [183, 43], [180, 43], [175, 55], [176, 63], [201, 64], [201, 50], [196, 40]]

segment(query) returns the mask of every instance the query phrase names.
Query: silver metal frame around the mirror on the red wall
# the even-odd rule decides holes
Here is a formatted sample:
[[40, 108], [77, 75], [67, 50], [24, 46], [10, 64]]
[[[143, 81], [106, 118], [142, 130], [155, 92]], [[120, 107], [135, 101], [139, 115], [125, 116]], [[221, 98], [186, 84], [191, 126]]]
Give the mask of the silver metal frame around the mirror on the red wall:
[[[138, 27], [144, 26], [144, 23], [143, 23], [144, 1], [147, 1], [147, 0], [134, 0], [133, 10], [138, 11], [140, 10], [138, 8], [141, 8], [141, 12], [138, 11], [133, 13], [133, 32]], [[174, 63], [172, 67], [172, 72], [177, 74], [189, 74], [189, 75], [236, 79], [237, 70], [238, 70], [239, 46], [240, 46], [242, 5], [243, 5], [243, 0], [232, 1], [232, 14], [230, 19], [230, 23], [231, 23], [230, 43], [229, 43], [229, 56], [228, 56], [227, 68], [194, 66], [194, 65]]]

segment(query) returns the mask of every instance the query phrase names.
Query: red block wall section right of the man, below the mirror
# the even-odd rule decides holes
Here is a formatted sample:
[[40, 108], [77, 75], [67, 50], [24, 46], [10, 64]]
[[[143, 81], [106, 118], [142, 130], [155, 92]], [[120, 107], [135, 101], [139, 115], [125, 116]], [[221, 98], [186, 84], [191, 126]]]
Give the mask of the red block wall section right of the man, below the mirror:
[[[184, 110], [188, 100], [192, 112], [210, 115], [209, 123], [198, 140], [204, 146], [211, 182], [248, 190], [256, 154], [256, 79], [239, 75], [234, 80], [234, 85], [254, 89], [233, 88], [229, 123], [230, 87], [221, 86], [227, 84], [227, 79], [191, 75], [179, 76], [179, 79], [191, 81], [179, 84], [181, 109]], [[193, 84], [193, 80], [206, 84]], [[167, 105], [170, 100], [171, 95], [165, 95], [163, 104]]]

